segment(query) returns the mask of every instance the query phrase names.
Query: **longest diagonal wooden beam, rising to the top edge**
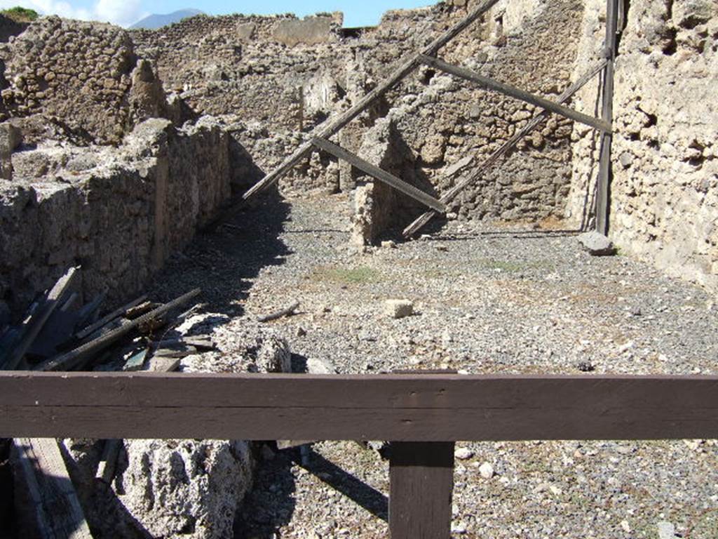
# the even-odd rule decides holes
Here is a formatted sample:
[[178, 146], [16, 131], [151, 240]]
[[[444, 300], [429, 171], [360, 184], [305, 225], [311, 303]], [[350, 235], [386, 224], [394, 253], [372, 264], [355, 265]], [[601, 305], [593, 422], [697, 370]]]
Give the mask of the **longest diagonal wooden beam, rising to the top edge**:
[[[444, 47], [444, 45], [446, 45], [449, 41], [454, 39], [454, 37], [460, 34], [464, 29], [470, 26], [472, 22], [475, 22], [477, 19], [479, 19], [479, 17], [481, 17], [489, 9], [495, 6], [495, 4], [498, 4], [498, 0], [483, 0], [478, 6], [476, 6], [473, 11], [467, 14], [467, 16], [464, 17], [460, 22], [458, 22], [454, 27], [437, 37], [436, 40], [429, 43], [429, 45], [424, 48], [422, 53], [424, 55], [437, 54], [439, 49]], [[342, 112], [341, 114], [336, 116], [336, 118], [330, 119], [329, 121], [327, 121], [326, 124], [322, 124], [319, 129], [317, 129], [317, 131], [312, 134], [312, 137], [321, 137], [322, 139], [328, 139], [333, 134], [337, 133], [340, 129], [342, 129], [343, 126], [348, 124], [350, 121], [359, 116], [359, 114], [368, 109], [368, 107], [371, 106], [374, 101], [376, 101], [387, 91], [393, 88], [393, 86], [395, 86], [400, 80], [403, 80], [406, 75], [409, 75], [409, 73], [419, 67], [419, 63], [421, 63], [419, 60], [419, 56], [419, 54], [411, 55], [411, 57], [409, 57], [408, 60], [406, 60], [398, 68], [396, 68], [396, 70], [394, 70], [391, 75], [388, 75], [388, 77], [384, 79], [383, 83], [381, 83], [379, 86], [366, 94], [350, 109], [345, 112]], [[311, 142], [305, 142], [304, 144], [302, 144], [302, 146], [297, 148], [297, 150], [292, 155], [290, 155], [286, 160], [284, 160], [284, 162], [281, 163], [281, 165], [279, 165], [279, 167], [277, 167], [271, 173], [266, 175], [262, 180], [256, 183], [253, 188], [248, 190], [243, 195], [243, 200], [251, 198], [251, 196], [255, 195], [259, 191], [264, 190], [270, 185], [276, 183], [277, 180], [286, 175], [289, 170], [292, 170], [292, 167], [297, 165], [297, 163], [304, 159], [304, 157], [307, 157], [311, 152]]]

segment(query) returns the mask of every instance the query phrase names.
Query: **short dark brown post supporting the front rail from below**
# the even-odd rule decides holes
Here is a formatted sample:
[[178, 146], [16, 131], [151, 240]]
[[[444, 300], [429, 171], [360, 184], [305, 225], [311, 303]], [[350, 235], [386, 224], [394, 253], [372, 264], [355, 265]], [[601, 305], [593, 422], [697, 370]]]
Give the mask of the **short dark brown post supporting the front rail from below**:
[[453, 442], [393, 442], [389, 457], [391, 539], [450, 539]]

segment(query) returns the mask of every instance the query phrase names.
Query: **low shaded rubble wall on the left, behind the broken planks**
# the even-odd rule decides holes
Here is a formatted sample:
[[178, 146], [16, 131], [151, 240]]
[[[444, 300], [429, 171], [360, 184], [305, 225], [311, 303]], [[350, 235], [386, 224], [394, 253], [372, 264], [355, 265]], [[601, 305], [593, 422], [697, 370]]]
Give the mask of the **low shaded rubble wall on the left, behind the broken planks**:
[[16, 312], [75, 265], [86, 298], [125, 300], [230, 195], [228, 137], [210, 119], [149, 120], [118, 149], [40, 147], [13, 160], [16, 178], [0, 183], [0, 300]]

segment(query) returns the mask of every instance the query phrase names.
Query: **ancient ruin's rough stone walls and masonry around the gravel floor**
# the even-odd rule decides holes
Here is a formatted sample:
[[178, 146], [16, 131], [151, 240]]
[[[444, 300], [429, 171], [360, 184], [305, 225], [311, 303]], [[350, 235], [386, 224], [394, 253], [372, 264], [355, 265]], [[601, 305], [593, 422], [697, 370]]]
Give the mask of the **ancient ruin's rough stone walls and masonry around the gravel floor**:
[[[341, 201], [357, 256], [404, 241], [401, 232], [426, 206], [317, 148], [269, 195], [248, 203], [242, 196], [478, 4], [388, 11], [377, 27], [351, 29], [339, 13], [200, 15], [132, 31], [0, 16], [0, 336], [68, 268], [81, 268], [78, 304], [99, 296], [126, 304], [198, 235], [264, 196], [332, 208]], [[620, 6], [608, 239], [589, 238], [600, 246], [587, 249], [618, 249], [714, 295], [718, 4]], [[605, 24], [604, 0], [501, 0], [441, 57], [561, 101], [588, 70], [603, 67]], [[594, 78], [564, 104], [600, 117], [601, 88]], [[540, 111], [423, 64], [333, 142], [440, 201]], [[541, 118], [421, 234], [447, 221], [594, 230], [600, 139], [564, 116]], [[242, 229], [239, 221], [230, 226]], [[203, 335], [214, 327], [207, 318], [227, 316], [211, 305], [185, 314], [177, 338]], [[230, 324], [241, 338], [175, 367], [292, 371], [286, 339], [256, 321]], [[123, 538], [231, 537], [261, 451], [246, 441], [125, 441], [116, 475], [98, 486], [103, 447], [68, 439], [61, 451], [93, 535]]]

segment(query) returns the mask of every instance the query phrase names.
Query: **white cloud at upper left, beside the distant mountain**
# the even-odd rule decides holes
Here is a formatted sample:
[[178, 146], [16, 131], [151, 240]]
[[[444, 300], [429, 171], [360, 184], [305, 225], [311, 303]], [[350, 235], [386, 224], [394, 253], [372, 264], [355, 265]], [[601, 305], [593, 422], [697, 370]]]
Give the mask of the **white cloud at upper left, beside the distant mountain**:
[[22, 5], [45, 15], [60, 15], [67, 19], [111, 22], [128, 26], [139, 21], [146, 13], [140, 0], [95, 0], [90, 9], [75, 7], [64, 0], [0, 0], [0, 9]]

